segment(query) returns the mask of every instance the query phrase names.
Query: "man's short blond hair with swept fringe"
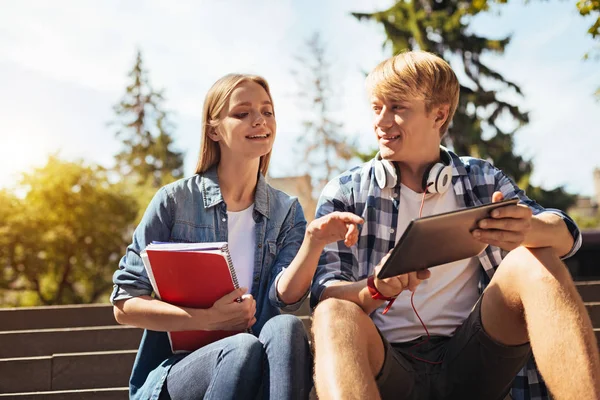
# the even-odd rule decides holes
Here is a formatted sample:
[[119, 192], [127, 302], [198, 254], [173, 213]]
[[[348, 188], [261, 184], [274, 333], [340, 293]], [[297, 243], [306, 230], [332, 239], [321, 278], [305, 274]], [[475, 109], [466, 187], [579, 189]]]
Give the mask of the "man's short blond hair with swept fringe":
[[393, 100], [422, 98], [425, 111], [448, 104], [448, 118], [440, 135], [450, 126], [458, 107], [460, 85], [456, 74], [442, 58], [426, 51], [407, 51], [379, 63], [367, 76], [369, 94]]

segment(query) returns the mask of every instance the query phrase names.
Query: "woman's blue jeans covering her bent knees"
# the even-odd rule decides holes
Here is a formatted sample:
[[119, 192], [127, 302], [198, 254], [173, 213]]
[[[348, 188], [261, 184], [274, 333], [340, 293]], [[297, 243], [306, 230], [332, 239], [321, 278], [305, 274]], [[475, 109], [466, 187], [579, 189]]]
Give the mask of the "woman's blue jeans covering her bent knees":
[[256, 338], [240, 333], [190, 353], [167, 376], [161, 399], [308, 399], [312, 359], [302, 322], [279, 315]]

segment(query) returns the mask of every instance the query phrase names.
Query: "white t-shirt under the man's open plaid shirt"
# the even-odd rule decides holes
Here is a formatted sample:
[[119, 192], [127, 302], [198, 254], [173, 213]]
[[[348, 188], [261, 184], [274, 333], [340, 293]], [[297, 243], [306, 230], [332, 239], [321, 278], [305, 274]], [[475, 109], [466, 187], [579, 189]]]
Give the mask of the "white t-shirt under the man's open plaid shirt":
[[[385, 189], [382, 196], [391, 196]], [[419, 216], [422, 193], [402, 185], [398, 210], [398, 240], [410, 221]], [[452, 188], [443, 194], [427, 194], [423, 217], [459, 209]], [[431, 243], [435, 249], [435, 243]], [[479, 261], [477, 257], [436, 266], [430, 269], [431, 277], [423, 281], [415, 292], [414, 303], [431, 335], [452, 336], [467, 318], [479, 298]], [[387, 314], [381, 312], [387, 302], [372, 315], [373, 322], [389, 342], [407, 342], [426, 335], [410, 304], [411, 292], [398, 296]]]

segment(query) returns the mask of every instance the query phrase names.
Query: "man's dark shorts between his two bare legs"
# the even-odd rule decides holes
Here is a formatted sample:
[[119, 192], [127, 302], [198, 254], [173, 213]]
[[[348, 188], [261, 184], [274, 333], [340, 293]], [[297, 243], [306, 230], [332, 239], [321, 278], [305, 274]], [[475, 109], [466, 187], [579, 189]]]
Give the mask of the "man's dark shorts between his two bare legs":
[[[531, 347], [529, 343], [502, 345], [483, 330], [482, 297], [452, 337], [432, 336], [411, 349], [424, 338], [389, 343], [380, 333], [385, 359], [377, 386], [382, 399], [505, 398], [517, 372], [531, 356]], [[441, 363], [430, 364], [415, 357]]]

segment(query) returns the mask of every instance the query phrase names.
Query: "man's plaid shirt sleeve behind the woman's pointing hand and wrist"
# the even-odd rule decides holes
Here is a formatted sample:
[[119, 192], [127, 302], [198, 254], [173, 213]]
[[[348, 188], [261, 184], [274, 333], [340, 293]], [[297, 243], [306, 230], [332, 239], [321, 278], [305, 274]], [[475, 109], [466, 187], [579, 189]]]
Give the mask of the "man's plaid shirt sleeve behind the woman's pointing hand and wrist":
[[[348, 197], [343, 193], [343, 189], [338, 180], [333, 180], [325, 186], [317, 203], [316, 218], [334, 211], [351, 211], [348, 207]], [[357, 246], [349, 248], [343, 240], [325, 246], [311, 286], [311, 308], [317, 306], [329, 285], [339, 281], [356, 281], [354, 273], [358, 268], [356, 252]]]

